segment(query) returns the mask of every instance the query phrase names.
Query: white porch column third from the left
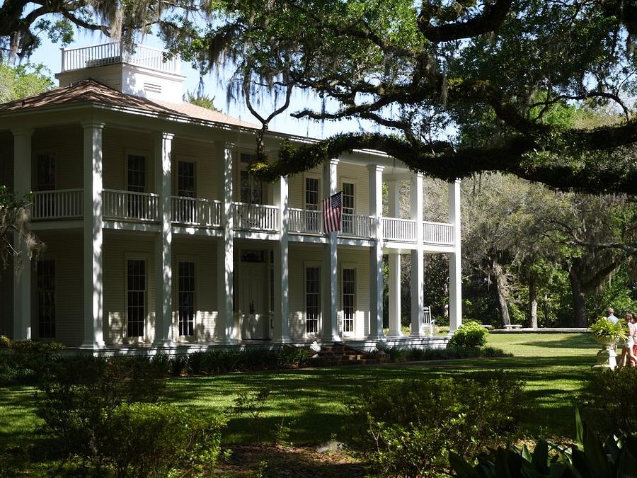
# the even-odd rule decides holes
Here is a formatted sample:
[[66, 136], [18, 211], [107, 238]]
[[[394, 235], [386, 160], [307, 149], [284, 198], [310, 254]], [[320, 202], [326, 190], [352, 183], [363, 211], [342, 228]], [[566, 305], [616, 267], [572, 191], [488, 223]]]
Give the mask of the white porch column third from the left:
[[159, 194], [161, 232], [155, 237], [155, 338], [154, 345], [173, 345], [173, 224], [171, 208], [171, 158], [174, 135], [155, 137], [155, 191]]

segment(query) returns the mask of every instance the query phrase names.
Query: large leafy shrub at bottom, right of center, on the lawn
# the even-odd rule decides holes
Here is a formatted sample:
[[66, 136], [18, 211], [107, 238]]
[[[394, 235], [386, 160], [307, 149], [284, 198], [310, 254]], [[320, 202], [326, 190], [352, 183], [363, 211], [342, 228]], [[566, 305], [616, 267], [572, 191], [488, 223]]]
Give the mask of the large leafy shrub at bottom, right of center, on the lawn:
[[470, 457], [515, 436], [523, 387], [506, 372], [377, 385], [348, 404], [352, 445], [378, 476], [436, 476], [449, 451]]

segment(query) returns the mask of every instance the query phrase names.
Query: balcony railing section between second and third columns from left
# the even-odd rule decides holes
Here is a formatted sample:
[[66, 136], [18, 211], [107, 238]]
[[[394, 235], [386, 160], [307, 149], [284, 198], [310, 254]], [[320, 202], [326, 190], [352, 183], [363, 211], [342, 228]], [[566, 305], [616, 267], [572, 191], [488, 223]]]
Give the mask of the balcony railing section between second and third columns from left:
[[105, 189], [102, 200], [107, 219], [159, 221], [159, 195]]

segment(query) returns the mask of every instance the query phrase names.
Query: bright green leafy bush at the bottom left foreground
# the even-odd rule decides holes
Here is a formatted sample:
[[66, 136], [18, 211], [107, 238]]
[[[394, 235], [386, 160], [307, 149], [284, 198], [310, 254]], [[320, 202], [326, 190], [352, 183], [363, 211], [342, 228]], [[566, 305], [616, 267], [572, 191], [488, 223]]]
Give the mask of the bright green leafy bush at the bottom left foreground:
[[101, 416], [95, 459], [122, 478], [166, 476], [171, 469], [200, 476], [219, 457], [225, 423], [168, 404], [121, 404]]

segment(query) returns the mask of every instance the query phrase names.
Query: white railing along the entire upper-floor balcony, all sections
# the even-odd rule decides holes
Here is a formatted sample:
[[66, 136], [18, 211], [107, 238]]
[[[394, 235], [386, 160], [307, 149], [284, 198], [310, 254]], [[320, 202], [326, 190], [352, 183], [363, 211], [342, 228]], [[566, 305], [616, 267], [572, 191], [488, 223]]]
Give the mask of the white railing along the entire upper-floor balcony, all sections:
[[[131, 191], [105, 189], [102, 193], [103, 217], [137, 223], [158, 223], [159, 195]], [[231, 211], [234, 229], [248, 232], [279, 231], [279, 207], [265, 204], [233, 202]], [[33, 194], [32, 218], [39, 220], [75, 220], [84, 217], [82, 189], [40, 191]], [[173, 224], [195, 228], [221, 228], [222, 203], [204, 198], [171, 198]], [[416, 243], [415, 220], [383, 217], [381, 219], [384, 241]], [[344, 214], [338, 237], [373, 239], [373, 217]], [[323, 236], [323, 215], [320, 210], [289, 208], [289, 234]], [[423, 243], [439, 246], [454, 244], [454, 228], [444, 222], [423, 221]]]

